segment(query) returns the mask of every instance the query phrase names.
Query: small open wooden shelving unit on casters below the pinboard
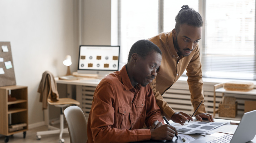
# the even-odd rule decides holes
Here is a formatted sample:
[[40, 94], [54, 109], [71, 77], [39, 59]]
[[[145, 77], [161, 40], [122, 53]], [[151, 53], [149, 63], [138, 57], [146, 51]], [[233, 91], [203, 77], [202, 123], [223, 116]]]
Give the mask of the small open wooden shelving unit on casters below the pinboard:
[[[17, 100], [8, 102], [8, 91], [11, 90], [11, 96]], [[23, 132], [23, 138], [26, 137], [28, 129], [28, 111], [27, 111], [27, 86], [4, 86], [0, 87], [0, 134], [4, 135], [4, 141], [9, 141], [9, 136]], [[26, 123], [27, 126], [22, 130], [9, 131], [9, 124]]]

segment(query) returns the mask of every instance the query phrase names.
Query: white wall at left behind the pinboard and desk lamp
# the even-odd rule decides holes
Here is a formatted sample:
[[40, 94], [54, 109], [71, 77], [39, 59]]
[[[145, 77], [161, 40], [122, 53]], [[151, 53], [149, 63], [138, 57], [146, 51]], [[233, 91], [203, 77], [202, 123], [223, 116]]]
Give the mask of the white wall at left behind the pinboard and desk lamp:
[[28, 123], [43, 121], [37, 88], [42, 73], [66, 74], [71, 55], [76, 71], [78, 0], [0, 0], [0, 41], [10, 41], [17, 85], [28, 86]]

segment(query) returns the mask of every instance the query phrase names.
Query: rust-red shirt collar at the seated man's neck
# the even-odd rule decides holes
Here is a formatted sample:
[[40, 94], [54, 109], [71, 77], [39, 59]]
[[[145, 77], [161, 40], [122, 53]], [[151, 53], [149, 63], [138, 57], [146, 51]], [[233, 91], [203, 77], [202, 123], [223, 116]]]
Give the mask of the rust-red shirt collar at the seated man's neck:
[[[127, 70], [126, 70], [126, 65], [124, 65], [124, 66], [122, 67], [122, 69], [120, 70], [120, 74], [121, 74], [122, 83], [123, 83], [123, 85], [125, 86], [125, 89], [126, 89], [126, 90], [132, 89], [133, 86], [131, 85], [131, 81], [130, 81], [130, 79], [129, 79], [129, 76], [128, 76], [128, 73], [127, 73]], [[138, 88], [141, 88], [142, 85], [137, 84], [137, 87], [138, 87]]]

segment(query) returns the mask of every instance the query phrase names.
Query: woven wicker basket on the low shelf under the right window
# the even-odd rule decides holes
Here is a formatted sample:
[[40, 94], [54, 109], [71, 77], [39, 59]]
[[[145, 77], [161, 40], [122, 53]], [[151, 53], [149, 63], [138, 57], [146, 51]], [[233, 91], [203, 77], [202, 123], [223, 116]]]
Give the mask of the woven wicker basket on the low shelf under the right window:
[[237, 115], [237, 102], [234, 97], [224, 97], [219, 103], [219, 117], [232, 117]]

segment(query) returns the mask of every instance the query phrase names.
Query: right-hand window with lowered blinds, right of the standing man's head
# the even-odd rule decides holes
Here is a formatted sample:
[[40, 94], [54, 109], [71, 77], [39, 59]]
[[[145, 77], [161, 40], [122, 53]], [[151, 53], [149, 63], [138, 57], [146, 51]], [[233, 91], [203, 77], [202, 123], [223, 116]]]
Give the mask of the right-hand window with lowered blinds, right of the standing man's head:
[[205, 77], [255, 79], [255, 0], [207, 0]]

